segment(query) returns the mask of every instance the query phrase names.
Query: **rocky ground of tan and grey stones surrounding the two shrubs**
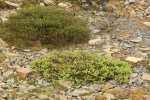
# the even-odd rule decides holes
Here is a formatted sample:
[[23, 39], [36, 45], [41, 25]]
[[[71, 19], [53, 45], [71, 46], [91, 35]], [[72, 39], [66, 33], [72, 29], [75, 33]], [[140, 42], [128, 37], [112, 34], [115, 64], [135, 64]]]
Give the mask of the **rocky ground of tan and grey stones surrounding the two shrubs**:
[[[106, 11], [79, 11], [78, 16], [88, 21], [92, 37], [89, 43], [71, 49], [98, 50], [99, 55], [131, 63], [132, 75], [128, 82], [120, 85], [110, 80], [105, 84], [76, 86], [60, 81], [54, 87], [30, 68], [33, 59], [47, 55], [51, 49], [17, 51], [0, 40], [1, 52], [7, 55], [0, 64], [0, 100], [150, 100], [150, 1], [120, 2], [121, 10], [116, 8], [116, 3], [108, 3]], [[20, 7], [17, 3], [6, 3]], [[15, 10], [1, 11], [2, 22], [10, 13], [14, 14]]]

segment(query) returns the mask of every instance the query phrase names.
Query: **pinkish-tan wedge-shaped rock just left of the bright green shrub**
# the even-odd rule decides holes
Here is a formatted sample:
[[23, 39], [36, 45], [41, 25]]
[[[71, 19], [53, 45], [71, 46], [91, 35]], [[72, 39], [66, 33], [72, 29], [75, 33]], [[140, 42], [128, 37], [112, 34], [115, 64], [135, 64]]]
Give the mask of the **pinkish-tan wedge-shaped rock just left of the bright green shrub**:
[[33, 70], [31, 68], [19, 68], [16, 71], [20, 78], [26, 78]]

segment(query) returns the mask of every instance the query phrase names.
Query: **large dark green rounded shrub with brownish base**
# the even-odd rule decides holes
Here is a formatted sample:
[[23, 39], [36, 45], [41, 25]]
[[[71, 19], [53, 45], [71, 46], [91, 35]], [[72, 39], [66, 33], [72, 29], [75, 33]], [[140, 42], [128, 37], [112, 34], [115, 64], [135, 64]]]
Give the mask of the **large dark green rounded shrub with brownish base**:
[[1, 29], [3, 40], [15, 46], [30, 46], [37, 41], [60, 46], [83, 43], [90, 37], [85, 21], [57, 7], [19, 10]]

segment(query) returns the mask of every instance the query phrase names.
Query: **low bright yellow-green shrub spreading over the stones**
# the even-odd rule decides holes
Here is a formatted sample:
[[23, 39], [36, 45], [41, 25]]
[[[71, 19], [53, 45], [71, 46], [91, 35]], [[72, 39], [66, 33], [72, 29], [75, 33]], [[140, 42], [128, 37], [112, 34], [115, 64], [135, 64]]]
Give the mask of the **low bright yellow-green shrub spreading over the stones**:
[[115, 79], [123, 83], [131, 74], [128, 63], [88, 51], [53, 51], [47, 57], [33, 61], [31, 66], [52, 82], [63, 79], [77, 84], [104, 83]]

